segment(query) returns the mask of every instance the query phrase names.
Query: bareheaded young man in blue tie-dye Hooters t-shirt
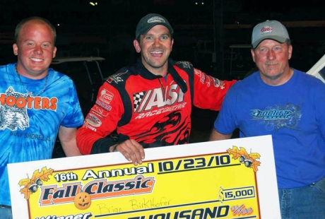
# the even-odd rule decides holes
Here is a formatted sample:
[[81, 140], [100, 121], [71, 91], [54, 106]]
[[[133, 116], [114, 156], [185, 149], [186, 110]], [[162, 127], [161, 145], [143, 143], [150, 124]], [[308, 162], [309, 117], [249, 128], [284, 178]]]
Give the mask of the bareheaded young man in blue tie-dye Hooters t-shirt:
[[[7, 164], [52, 158], [57, 136], [66, 156], [81, 155], [76, 131], [83, 124], [76, 87], [49, 69], [57, 48], [48, 20], [26, 18], [16, 26], [17, 63], [0, 66], [0, 215], [12, 218]], [[18, 183], [18, 182], [17, 182]]]

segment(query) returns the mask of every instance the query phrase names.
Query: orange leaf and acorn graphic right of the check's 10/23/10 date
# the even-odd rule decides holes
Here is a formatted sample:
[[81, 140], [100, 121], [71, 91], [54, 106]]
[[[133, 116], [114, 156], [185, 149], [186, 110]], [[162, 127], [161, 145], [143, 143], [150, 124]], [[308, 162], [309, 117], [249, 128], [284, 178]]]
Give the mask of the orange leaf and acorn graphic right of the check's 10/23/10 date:
[[235, 160], [239, 160], [241, 163], [243, 163], [246, 167], [252, 168], [254, 172], [257, 172], [257, 167], [261, 164], [259, 162], [259, 159], [261, 158], [261, 155], [259, 153], [247, 153], [245, 148], [240, 147], [240, 149], [237, 148], [237, 146], [232, 146], [232, 149], [228, 149], [227, 152], [232, 155], [232, 158]]

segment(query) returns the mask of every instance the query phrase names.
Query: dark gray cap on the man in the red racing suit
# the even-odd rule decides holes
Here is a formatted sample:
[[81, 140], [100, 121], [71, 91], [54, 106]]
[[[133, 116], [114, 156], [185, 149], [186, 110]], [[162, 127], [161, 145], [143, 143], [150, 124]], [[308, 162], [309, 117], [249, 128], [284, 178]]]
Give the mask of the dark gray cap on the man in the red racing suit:
[[170, 30], [170, 35], [174, 33], [172, 26], [164, 16], [158, 13], [149, 13], [141, 18], [138, 25], [136, 25], [136, 38], [138, 38], [139, 35], [145, 35], [155, 25], [164, 25]]

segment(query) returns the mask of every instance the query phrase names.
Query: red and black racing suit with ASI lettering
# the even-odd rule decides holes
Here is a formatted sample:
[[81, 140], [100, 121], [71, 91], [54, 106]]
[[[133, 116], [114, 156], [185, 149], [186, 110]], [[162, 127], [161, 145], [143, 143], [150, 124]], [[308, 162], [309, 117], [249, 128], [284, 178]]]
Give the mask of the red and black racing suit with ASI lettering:
[[168, 59], [167, 76], [150, 73], [141, 60], [108, 77], [95, 105], [77, 131], [84, 155], [107, 153], [115, 142], [135, 139], [143, 148], [189, 143], [192, 105], [220, 110], [228, 88], [236, 81], [220, 81], [195, 69], [188, 61]]

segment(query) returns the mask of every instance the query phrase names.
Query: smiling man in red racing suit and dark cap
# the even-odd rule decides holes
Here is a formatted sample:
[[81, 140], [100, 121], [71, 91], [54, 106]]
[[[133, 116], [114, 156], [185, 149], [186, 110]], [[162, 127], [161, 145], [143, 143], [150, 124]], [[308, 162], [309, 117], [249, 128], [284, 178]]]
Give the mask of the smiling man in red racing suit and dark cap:
[[[220, 109], [236, 81], [220, 81], [189, 61], [172, 60], [173, 32], [159, 14], [141, 18], [134, 40], [141, 57], [134, 66], [107, 78], [99, 89], [96, 104], [77, 132], [81, 153], [119, 151], [138, 165], [144, 159], [143, 148], [189, 143], [193, 105]], [[117, 143], [107, 138], [115, 129]]]

